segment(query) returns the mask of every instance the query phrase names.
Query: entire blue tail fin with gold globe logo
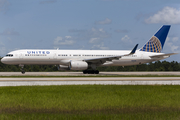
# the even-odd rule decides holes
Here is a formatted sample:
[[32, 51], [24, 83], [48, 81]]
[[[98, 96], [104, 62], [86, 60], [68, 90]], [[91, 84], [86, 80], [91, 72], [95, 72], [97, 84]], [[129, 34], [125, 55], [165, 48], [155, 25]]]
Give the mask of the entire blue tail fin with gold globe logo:
[[163, 25], [159, 31], [140, 49], [140, 51], [160, 53], [163, 49], [170, 27], [170, 25]]

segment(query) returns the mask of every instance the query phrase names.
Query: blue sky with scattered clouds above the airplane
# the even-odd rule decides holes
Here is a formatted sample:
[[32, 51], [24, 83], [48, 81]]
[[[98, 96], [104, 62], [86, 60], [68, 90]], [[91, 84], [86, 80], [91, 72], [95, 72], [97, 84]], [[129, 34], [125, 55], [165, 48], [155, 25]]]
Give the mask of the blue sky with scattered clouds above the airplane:
[[[163, 51], [180, 53], [179, 0], [0, 0], [0, 56], [18, 49], [140, 49], [171, 25]], [[180, 62], [180, 54], [167, 61]]]

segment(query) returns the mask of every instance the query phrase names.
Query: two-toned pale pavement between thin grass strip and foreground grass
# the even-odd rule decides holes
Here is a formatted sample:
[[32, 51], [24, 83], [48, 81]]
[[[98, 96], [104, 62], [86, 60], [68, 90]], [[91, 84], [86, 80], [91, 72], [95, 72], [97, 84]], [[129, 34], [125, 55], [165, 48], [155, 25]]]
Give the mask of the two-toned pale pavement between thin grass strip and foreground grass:
[[0, 78], [0, 86], [33, 85], [180, 85], [180, 77]]

